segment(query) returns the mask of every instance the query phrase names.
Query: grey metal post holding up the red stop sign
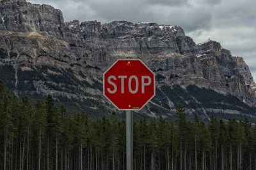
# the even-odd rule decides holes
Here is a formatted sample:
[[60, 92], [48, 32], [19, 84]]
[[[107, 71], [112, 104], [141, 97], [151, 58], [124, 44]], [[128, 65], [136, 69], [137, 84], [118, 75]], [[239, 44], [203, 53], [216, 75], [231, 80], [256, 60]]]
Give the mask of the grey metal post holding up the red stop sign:
[[133, 169], [132, 111], [126, 111], [126, 168]]

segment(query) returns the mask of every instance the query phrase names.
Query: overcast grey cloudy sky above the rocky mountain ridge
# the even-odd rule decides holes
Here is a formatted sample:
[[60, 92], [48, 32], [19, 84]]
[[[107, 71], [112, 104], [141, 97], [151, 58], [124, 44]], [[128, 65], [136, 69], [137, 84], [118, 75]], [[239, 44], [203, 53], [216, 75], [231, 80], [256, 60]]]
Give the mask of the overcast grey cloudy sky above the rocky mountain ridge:
[[255, 0], [28, 0], [51, 4], [68, 20], [180, 25], [196, 43], [219, 41], [244, 57], [256, 80]]

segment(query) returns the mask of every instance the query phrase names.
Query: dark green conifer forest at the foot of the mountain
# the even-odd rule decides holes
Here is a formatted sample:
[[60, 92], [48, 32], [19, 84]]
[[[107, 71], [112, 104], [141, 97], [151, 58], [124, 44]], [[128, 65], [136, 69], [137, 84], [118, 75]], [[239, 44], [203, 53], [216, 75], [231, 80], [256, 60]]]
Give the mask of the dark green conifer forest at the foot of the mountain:
[[[31, 106], [0, 83], [0, 169], [125, 169], [125, 122], [67, 114], [51, 96]], [[247, 120], [134, 122], [134, 169], [256, 169], [256, 128]]]

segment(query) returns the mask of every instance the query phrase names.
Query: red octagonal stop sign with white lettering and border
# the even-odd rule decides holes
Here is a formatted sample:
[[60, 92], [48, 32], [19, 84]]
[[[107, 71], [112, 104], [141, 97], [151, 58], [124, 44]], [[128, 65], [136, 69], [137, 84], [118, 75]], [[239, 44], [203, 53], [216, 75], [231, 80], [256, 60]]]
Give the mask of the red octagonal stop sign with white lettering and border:
[[155, 74], [138, 59], [117, 60], [103, 81], [104, 96], [118, 110], [141, 110], [156, 94]]

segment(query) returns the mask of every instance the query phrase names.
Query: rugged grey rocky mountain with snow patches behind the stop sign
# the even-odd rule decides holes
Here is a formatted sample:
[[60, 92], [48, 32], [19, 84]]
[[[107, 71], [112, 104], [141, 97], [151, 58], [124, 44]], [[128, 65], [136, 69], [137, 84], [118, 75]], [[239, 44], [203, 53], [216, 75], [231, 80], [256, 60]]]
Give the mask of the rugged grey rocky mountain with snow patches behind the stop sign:
[[60, 10], [25, 0], [0, 1], [0, 79], [31, 101], [51, 94], [70, 113], [116, 111], [102, 96], [102, 74], [117, 59], [139, 58], [157, 95], [138, 115], [188, 115], [256, 122], [256, 85], [242, 57], [208, 39], [196, 45], [179, 26], [114, 21], [64, 22]]

